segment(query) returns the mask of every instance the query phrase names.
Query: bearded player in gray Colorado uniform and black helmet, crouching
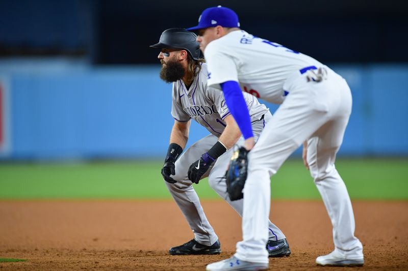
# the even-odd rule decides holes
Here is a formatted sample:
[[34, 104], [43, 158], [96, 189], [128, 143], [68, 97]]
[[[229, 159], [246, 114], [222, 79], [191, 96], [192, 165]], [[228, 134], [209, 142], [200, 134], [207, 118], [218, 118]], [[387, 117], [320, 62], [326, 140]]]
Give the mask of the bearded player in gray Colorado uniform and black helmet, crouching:
[[[194, 238], [189, 242], [170, 248], [171, 255], [221, 252], [218, 236], [204, 214], [192, 183], [198, 184], [200, 179], [208, 176], [208, 182], [217, 194], [240, 216], [243, 212], [243, 200], [231, 201], [226, 196], [224, 176], [232, 147], [237, 144], [242, 146], [244, 139], [222, 92], [207, 86], [207, 64], [200, 58], [196, 38], [186, 29], [170, 28], [162, 33], [159, 43], [150, 46], [161, 49], [158, 55], [162, 64], [160, 77], [173, 84], [171, 115], [174, 125], [162, 175], [194, 233]], [[249, 110], [253, 135], [258, 138], [272, 115], [255, 97], [245, 94], [243, 100], [245, 108]], [[191, 119], [207, 128], [210, 135], [195, 142], [183, 153]], [[289, 256], [291, 251], [285, 235], [270, 221], [267, 224], [267, 249], [264, 244], [263, 251], [269, 257]]]

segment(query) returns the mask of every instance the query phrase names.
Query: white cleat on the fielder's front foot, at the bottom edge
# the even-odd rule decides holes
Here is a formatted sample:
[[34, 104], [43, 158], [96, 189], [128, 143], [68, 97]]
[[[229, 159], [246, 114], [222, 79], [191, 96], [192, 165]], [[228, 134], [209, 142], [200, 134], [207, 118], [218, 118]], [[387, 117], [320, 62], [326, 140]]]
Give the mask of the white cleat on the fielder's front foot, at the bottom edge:
[[207, 265], [207, 271], [237, 271], [237, 270], [265, 270], [269, 268], [269, 263], [242, 261], [235, 256], [219, 262]]

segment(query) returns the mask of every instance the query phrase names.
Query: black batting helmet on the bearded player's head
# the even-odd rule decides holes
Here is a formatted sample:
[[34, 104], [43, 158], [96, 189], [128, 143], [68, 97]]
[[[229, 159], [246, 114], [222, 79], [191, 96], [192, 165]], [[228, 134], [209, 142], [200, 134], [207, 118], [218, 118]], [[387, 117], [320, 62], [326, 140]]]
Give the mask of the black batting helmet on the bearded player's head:
[[159, 43], [150, 45], [150, 47], [185, 49], [195, 60], [198, 60], [201, 57], [201, 51], [196, 38], [194, 33], [184, 28], [170, 28], [163, 31]]

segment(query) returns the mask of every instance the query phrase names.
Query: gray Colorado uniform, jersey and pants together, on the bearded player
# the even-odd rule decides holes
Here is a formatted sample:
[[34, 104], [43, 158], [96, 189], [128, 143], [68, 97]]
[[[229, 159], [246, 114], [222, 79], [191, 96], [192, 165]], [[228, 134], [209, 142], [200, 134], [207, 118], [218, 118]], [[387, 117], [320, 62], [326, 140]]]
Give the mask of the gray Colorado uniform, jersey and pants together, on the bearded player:
[[[264, 130], [265, 123], [272, 119], [272, 115], [265, 105], [258, 102], [257, 98], [249, 94], [244, 94], [244, 97], [250, 113], [254, 137], [258, 138]], [[224, 118], [230, 114], [230, 110], [225, 104], [222, 91], [207, 86], [207, 64], [205, 63], [201, 65], [201, 71], [195, 77], [189, 89], [186, 88], [182, 80], [173, 83], [172, 103], [171, 114], [177, 121], [187, 122], [194, 118], [211, 133], [184, 150], [180, 158], [177, 159], [175, 162], [175, 175], [171, 176], [177, 183], [170, 184], [164, 181], [193, 230], [194, 238], [200, 244], [211, 246], [218, 240], [218, 236], [204, 214], [198, 195], [188, 179], [187, 172], [190, 165], [197, 161], [203, 153], [208, 152], [217, 142], [226, 126]], [[263, 122], [260, 122], [259, 120], [263, 115]], [[241, 136], [236, 145], [242, 145], [243, 142], [244, 138]], [[231, 201], [226, 195], [225, 182], [220, 182], [220, 179], [225, 175], [225, 169], [232, 152], [233, 148], [230, 148], [221, 155], [210, 169], [202, 175], [202, 178], [208, 177], [211, 188], [242, 216], [243, 200]], [[281, 240], [285, 238], [283, 232], [271, 221], [268, 222], [268, 225], [269, 239]]]

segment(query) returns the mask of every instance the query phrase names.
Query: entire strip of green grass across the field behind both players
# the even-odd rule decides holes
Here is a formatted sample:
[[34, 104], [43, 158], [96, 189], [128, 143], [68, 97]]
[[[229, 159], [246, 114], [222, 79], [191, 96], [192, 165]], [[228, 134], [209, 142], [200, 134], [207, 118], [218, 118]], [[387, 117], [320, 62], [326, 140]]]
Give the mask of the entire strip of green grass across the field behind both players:
[[[0, 199], [170, 199], [162, 162], [0, 164]], [[408, 159], [338, 159], [352, 199], [408, 199]], [[218, 199], [206, 179], [200, 198]], [[272, 177], [274, 199], [319, 199], [301, 160]]]

